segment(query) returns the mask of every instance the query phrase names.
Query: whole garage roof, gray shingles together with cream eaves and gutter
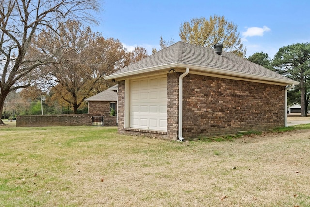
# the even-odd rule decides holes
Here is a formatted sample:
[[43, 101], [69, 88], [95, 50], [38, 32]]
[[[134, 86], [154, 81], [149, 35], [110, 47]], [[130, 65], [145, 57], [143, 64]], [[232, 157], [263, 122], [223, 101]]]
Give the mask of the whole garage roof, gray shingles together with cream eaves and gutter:
[[167, 68], [190, 68], [191, 71], [266, 80], [282, 84], [298, 82], [230, 52], [218, 55], [212, 48], [177, 42], [147, 58], [131, 64], [105, 79], [116, 79]]

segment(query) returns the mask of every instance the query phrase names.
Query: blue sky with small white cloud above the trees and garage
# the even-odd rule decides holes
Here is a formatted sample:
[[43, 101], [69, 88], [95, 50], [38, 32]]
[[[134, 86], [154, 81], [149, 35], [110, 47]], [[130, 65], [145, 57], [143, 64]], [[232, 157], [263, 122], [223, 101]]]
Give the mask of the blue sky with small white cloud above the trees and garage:
[[273, 58], [283, 46], [310, 42], [309, 0], [104, 0], [102, 8], [94, 32], [149, 54], [160, 49], [160, 36], [179, 41], [183, 22], [215, 14], [238, 25], [247, 57], [263, 51]]

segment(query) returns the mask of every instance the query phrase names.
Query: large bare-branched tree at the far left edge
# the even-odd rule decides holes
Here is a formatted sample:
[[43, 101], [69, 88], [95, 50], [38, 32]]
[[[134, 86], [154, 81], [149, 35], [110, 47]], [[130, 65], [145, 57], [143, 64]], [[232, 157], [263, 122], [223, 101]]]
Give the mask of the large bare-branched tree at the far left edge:
[[[49, 28], [57, 35], [57, 22], [93, 21], [90, 11], [98, 11], [98, 1], [0, 0], [0, 114], [9, 92], [31, 85], [26, 78], [34, 68], [60, 62], [55, 53], [27, 55], [36, 32]], [[0, 124], [4, 124], [1, 119]]]

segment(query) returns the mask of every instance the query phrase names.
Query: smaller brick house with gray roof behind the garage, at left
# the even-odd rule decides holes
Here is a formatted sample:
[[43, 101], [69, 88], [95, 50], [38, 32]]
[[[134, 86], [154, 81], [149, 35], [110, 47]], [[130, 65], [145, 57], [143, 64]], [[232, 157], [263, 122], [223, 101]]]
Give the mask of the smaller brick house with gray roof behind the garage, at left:
[[112, 86], [103, 92], [85, 99], [88, 102], [88, 114], [94, 116], [110, 116], [111, 109], [117, 111], [117, 88], [118, 85]]

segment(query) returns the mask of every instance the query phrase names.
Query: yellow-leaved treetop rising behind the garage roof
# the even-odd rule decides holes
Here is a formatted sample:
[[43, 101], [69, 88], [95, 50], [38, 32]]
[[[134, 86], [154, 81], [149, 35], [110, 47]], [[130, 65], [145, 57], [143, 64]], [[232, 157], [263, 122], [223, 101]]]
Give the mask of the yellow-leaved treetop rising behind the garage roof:
[[200, 45], [203, 47], [213, 47], [216, 43], [224, 45], [224, 51], [232, 52], [244, 57], [246, 49], [243, 48], [238, 26], [229, 22], [224, 16], [210, 16], [192, 18], [190, 22], [184, 22], [180, 26], [180, 38], [183, 42]]

